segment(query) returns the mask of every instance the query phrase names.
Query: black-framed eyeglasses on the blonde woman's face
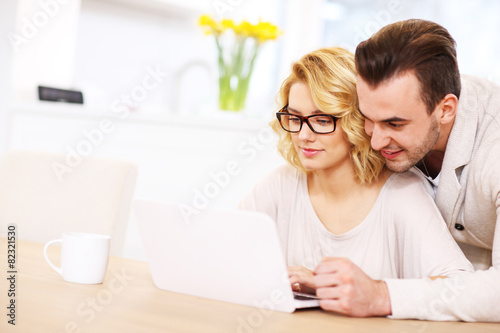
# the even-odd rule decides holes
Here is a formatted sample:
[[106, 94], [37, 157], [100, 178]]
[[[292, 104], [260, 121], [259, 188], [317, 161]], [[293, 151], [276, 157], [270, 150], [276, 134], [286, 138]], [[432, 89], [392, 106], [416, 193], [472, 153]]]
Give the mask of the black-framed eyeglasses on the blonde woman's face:
[[311, 131], [316, 134], [333, 133], [337, 127], [338, 118], [329, 114], [313, 114], [311, 116], [303, 117], [288, 113], [287, 111], [288, 105], [276, 112], [276, 118], [278, 118], [281, 127], [290, 133], [300, 132], [304, 123], [306, 123]]

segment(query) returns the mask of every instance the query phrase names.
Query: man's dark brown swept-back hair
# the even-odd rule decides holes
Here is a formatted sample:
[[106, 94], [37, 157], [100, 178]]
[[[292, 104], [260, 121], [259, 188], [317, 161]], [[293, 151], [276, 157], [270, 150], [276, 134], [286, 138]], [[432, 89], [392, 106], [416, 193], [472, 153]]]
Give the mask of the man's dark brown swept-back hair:
[[385, 26], [356, 48], [358, 74], [372, 87], [407, 72], [420, 82], [429, 113], [447, 95], [460, 97], [456, 43], [437, 23], [411, 19]]

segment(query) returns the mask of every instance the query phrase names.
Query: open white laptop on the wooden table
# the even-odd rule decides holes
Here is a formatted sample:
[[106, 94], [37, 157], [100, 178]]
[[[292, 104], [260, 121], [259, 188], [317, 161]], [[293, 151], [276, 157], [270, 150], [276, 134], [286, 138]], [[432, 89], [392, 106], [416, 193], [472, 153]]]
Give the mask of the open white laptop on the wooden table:
[[314, 296], [294, 297], [267, 215], [144, 200], [133, 211], [158, 288], [289, 313], [319, 306]]

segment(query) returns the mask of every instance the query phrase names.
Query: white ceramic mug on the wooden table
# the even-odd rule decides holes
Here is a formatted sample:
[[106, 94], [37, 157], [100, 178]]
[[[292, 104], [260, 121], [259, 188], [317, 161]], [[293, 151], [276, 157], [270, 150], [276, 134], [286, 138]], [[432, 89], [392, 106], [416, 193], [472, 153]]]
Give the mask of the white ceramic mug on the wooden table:
[[[66, 232], [43, 248], [43, 256], [63, 280], [84, 284], [104, 281], [108, 266], [110, 236], [81, 232]], [[61, 243], [61, 267], [56, 267], [47, 257], [47, 248]]]

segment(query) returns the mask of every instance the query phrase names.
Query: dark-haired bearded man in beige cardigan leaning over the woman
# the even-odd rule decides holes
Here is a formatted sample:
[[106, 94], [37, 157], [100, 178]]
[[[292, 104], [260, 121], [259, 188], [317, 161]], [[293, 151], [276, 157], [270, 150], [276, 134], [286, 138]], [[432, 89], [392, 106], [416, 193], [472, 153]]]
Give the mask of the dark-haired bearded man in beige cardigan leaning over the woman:
[[360, 43], [356, 67], [372, 147], [389, 169], [422, 177], [476, 271], [374, 281], [346, 259], [326, 258], [315, 270], [321, 306], [352, 316], [500, 322], [500, 87], [461, 78], [455, 41], [424, 20], [391, 24]]

